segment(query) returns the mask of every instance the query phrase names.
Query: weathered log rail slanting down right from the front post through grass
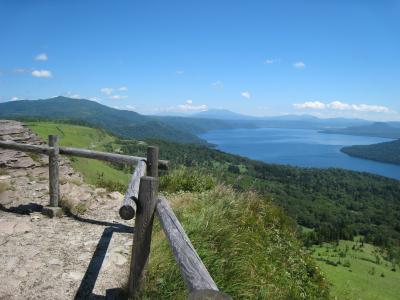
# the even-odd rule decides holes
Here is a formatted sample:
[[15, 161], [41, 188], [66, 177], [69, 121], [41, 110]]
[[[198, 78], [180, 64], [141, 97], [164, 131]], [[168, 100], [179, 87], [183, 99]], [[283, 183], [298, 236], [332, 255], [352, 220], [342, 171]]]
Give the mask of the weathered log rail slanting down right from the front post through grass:
[[158, 198], [156, 211], [189, 291], [218, 291], [217, 285], [194, 249], [167, 199]]

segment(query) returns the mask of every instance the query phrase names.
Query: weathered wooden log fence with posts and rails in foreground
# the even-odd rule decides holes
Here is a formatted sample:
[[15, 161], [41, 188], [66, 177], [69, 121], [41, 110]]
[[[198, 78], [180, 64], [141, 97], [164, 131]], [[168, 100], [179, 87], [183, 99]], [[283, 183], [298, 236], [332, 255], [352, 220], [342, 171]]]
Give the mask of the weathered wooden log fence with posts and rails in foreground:
[[[49, 206], [44, 208], [51, 216], [59, 209], [59, 155], [72, 155], [113, 163], [136, 164], [132, 179], [119, 209], [124, 220], [135, 216], [135, 233], [128, 281], [128, 296], [136, 297], [143, 288], [143, 276], [148, 264], [153, 220], [156, 215], [178, 264], [189, 291], [188, 299], [232, 299], [222, 293], [201, 258], [194, 249], [182, 225], [165, 197], [158, 196], [158, 170], [168, 169], [168, 161], [158, 159], [158, 147], [147, 148], [146, 157], [60, 147], [58, 136], [50, 135], [48, 146], [0, 141], [0, 148], [35, 152], [49, 156]], [[49, 213], [50, 212], [50, 213]]]

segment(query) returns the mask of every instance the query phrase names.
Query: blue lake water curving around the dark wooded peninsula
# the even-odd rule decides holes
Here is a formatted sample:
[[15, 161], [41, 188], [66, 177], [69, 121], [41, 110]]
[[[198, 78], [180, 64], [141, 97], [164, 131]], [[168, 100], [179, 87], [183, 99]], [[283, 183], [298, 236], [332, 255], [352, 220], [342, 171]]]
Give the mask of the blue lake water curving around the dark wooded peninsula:
[[344, 168], [400, 179], [398, 165], [355, 158], [340, 151], [343, 146], [376, 144], [390, 139], [281, 128], [213, 130], [200, 137], [222, 151], [267, 163]]

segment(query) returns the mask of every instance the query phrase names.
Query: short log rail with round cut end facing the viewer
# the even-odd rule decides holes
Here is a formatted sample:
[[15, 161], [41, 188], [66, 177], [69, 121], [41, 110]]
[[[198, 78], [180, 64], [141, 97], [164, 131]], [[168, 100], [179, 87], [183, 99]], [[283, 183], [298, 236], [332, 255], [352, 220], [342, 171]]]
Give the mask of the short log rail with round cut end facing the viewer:
[[128, 190], [125, 193], [124, 200], [119, 209], [119, 215], [124, 220], [131, 220], [136, 214], [136, 203], [139, 196], [140, 178], [146, 174], [146, 163], [141, 160], [138, 162], [135, 171], [133, 172], [131, 182], [129, 183]]

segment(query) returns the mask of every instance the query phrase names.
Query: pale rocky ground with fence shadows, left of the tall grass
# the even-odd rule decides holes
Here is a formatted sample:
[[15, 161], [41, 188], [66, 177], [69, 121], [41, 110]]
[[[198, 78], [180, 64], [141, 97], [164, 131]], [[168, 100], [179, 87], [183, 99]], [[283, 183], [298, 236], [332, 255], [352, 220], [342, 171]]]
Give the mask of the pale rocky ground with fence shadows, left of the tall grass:
[[[43, 144], [26, 126], [0, 120], [0, 139]], [[84, 183], [65, 157], [60, 190], [72, 213], [49, 219], [48, 158], [0, 148], [0, 299], [113, 298], [128, 279], [132, 224], [122, 195]]]

